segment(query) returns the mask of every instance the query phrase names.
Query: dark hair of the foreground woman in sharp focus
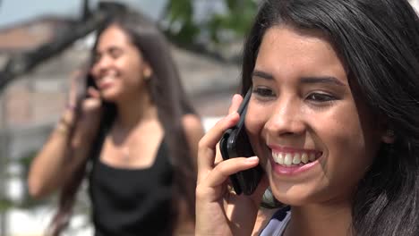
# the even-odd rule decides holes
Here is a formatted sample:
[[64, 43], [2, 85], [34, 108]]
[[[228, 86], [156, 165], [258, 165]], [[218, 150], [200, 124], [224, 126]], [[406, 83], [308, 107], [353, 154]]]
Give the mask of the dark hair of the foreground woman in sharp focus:
[[[387, 121], [382, 144], [359, 183], [356, 235], [419, 235], [419, 19], [406, 0], [268, 0], [244, 46], [242, 94], [252, 85], [261, 38], [275, 25], [319, 30], [348, 72], [351, 88]], [[356, 89], [355, 89], [356, 88]]]

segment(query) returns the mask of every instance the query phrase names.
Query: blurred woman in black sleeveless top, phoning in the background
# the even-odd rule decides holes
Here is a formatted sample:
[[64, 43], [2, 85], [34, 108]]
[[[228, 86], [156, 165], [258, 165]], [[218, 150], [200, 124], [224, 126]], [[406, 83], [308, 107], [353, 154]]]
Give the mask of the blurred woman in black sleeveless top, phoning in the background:
[[98, 32], [87, 84], [30, 169], [33, 196], [61, 191], [52, 234], [68, 223], [86, 166], [95, 235], [192, 233], [203, 130], [166, 39], [138, 13], [116, 15]]

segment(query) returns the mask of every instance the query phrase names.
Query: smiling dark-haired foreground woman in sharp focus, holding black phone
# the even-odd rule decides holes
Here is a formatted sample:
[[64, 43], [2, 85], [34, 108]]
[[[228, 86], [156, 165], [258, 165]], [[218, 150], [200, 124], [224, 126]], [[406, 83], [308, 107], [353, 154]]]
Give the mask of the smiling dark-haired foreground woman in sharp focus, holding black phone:
[[[242, 97], [200, 142], [196, 234], [419, 235], [419, 19], [406, 0], [267, 0], [244, 46], [256, 156], [214, 163]], [[252, 196], [228, 176], [257, 164]]]

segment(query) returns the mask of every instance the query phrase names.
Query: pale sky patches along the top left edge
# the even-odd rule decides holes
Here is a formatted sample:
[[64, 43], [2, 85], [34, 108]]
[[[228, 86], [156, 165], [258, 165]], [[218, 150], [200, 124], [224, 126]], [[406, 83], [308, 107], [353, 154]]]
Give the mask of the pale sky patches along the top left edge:
[[[99, 0], [90, 0], [96, 7]], [[158, 16], [165, 0], [120, 0], [139, 9], [147, 9], [150, 17]], [[0, 0], [0, 29], [21, 21], [29, 21], [40, 15], [58, 14], [77, 18], [81, 13], [81, 0]]]

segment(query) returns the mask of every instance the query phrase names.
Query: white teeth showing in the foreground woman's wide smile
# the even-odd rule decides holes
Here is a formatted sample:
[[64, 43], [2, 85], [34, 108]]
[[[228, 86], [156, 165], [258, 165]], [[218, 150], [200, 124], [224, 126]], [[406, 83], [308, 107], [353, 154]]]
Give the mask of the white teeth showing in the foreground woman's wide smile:
[[309, 164], [321, 156], [318, 151], [278, 152], [272, 150], [273, 161], [286, 167]]

